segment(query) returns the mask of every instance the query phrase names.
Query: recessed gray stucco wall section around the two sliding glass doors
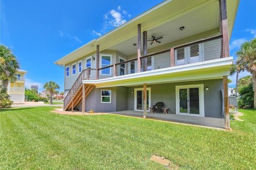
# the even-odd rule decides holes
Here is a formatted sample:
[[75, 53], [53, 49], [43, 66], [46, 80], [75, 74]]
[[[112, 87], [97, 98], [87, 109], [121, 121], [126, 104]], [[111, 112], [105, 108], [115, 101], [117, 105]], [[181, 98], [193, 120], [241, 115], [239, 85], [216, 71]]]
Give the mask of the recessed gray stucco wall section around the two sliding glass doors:
[[[179, 83], [166, 83], [148, 85], [151, 88], [151, 105], [162, 101], [165, 107], [170, 107], [170, 113], [176, 113], [175, 105], [175, 86], [188, 85], [188, 84], [204, 84], [204, 88], [208, 87], [209, 90], [204, 90], [204, 112], [205, 117], [221, 118], [221, 92], [223, 89], [222, 79], [217, 80], [204, 80], [193, 82], [179, 82]], [[127, 109], [134, 110], [134, 88], [142, 88], [142, 86], [128, 87], [127, 88]]]

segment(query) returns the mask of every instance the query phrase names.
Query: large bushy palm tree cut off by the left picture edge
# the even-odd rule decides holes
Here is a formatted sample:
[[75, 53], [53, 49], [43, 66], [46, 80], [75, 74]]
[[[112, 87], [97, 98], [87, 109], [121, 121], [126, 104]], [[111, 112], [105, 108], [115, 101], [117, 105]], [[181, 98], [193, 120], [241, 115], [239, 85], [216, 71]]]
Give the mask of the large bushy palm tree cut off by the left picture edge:
[[9, 81], [17, 79], [15, 73], [20, 69], [17, 57], [12, 54], [12, 50], [4, 45], [0, 45], [0, 80], [2, 81], [2, 92], [7, 93]]

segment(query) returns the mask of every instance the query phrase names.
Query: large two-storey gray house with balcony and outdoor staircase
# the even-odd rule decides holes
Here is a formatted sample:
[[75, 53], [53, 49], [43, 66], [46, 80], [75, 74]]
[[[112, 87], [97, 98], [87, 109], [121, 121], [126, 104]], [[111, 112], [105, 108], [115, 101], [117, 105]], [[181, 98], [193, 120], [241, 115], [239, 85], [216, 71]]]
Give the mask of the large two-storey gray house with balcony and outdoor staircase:
[[229, 39], [238, 4], [164, 1], [62, 57], [55, 64], [65, 66], [64, 109], [146, 117], [162, 101], [171, 114], [225, 117], [229, 129]]

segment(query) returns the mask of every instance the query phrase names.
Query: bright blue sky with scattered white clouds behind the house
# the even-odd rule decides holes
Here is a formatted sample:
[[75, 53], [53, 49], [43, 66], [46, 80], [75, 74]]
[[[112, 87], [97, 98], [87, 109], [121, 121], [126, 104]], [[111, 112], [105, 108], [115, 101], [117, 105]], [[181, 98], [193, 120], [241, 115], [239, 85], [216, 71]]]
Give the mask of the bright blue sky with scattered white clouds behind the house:
[[[28, 71], [26, 87], [55, 81], [63, 91], [64, 70], [53, 62], [118, 27], [162, 0], [0, 0], [0, 44], [10, 47]], [[134, 5], [136, 4], [136, 5]], [[256, 1], [241, 0], [230, 39], [230, 56], [256, 38]], [[249, 75], [243, 72], [239, 78]], [[229, 86], [235, 86], [235, 76]]]

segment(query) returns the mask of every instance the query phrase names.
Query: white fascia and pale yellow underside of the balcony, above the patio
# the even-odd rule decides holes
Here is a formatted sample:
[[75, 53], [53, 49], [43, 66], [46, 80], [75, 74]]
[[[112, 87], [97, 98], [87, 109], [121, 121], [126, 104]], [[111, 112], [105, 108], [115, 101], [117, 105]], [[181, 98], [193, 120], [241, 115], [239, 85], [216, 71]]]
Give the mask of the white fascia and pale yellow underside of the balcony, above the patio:
[[233, 57], [211, 61], [168, 67], [153, 71], [122, 75], [99, 80], [83, 80], [84, 84], [94, 84], [97, 88], [116, 86], [141, 86], [143, 83], [159, 84], [183, 81], [222, 79], [229, 75]]

